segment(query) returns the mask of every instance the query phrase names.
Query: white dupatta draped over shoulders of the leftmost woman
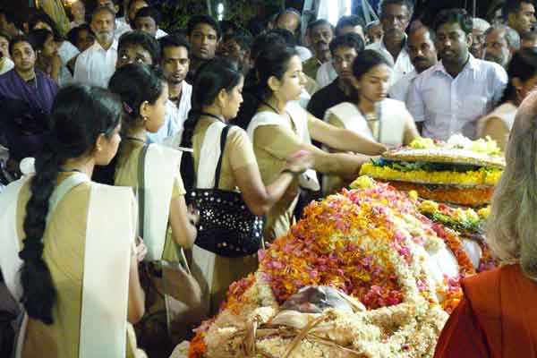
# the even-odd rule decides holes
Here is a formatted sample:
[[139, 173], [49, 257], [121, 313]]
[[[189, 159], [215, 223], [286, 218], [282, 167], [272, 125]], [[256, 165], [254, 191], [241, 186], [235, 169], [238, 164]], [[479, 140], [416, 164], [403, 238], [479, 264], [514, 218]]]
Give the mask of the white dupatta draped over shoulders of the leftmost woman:
[[[17, 301], [21, 298], [19, 271], [22, 261], [16, 214], [19, 193], [31, 176], [11, 183], [0, 195], [0, 267]], [[67, 192], [86, 175], [75, 174], [55, 188], [49, 215]], [[91, 183], [90, 207], [82, 279], [79, 358], [124, 357], [126, 348], [129, 270], [134, 245], [135, 205], [130, 188]], [[106, 248], [106, 250], [103, 250]], [[112, 277], [111, 277], [112, 276]], [[15, 357], [21, 357], [28, 316], [24, 316]]]

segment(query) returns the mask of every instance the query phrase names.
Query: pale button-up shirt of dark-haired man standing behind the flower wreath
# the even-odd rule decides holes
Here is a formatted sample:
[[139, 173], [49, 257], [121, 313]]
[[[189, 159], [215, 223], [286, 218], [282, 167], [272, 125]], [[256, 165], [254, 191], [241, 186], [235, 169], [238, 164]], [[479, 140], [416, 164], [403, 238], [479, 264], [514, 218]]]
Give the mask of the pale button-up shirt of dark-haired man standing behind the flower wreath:
[[462, 133], [474, 138], [477, 120], [501, 98], [507, 85], [503, 67], [469, 56], [455, 79], [440, 61], [410, 85], [406, 107], [414, 121], [423, 122], [424, 137], [447, 140]]

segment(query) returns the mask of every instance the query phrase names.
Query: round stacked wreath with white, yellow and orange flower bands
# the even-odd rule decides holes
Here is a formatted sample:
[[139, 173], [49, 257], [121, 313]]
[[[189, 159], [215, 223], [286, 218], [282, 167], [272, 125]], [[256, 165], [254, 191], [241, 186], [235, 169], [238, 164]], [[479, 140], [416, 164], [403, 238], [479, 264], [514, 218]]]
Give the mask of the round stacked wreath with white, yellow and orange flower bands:
[[362, 166], [361, 174], [425, 199], [479, 207], [490, 203], [505, 166], [495, 141], [454, 135], [447, 142], [417, 139]]

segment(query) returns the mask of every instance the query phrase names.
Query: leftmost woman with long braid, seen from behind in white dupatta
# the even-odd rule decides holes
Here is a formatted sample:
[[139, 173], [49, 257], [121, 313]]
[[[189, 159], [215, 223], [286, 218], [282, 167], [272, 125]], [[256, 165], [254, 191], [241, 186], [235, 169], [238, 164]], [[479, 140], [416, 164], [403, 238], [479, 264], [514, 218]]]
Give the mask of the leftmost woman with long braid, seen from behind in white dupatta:
[[136, 354], [124, 339], [145, 300], [135, 201], [130, 190], [90, 181], [115, 156], [121, 116], [107, 90], [60, 90], [35, 173], [0, 195], [0, 268], [25, 312], [17, 357]]

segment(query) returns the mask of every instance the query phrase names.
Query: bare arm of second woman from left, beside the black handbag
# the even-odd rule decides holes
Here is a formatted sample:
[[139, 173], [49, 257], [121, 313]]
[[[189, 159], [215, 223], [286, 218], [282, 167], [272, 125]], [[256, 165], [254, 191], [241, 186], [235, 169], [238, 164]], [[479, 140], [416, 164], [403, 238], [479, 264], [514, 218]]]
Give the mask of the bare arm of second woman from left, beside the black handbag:
[[190, 217], [183, 195], [171, 200], [169, 222], [170, 226], [172, 226], [172, 236], [175, 243], [183, 247], [183, 249], [191, 249], [198, 234], [196, 226], [191, 223]]

